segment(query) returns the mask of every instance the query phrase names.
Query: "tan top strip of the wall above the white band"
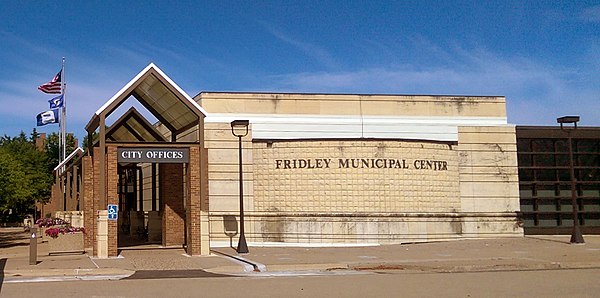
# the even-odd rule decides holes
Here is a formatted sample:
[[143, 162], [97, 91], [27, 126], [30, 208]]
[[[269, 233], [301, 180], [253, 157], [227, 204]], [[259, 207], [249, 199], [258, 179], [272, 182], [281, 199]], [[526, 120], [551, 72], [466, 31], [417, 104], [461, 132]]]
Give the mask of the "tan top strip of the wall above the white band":
[[210, 113], [506, 117], [503, 96], [202, 92]]

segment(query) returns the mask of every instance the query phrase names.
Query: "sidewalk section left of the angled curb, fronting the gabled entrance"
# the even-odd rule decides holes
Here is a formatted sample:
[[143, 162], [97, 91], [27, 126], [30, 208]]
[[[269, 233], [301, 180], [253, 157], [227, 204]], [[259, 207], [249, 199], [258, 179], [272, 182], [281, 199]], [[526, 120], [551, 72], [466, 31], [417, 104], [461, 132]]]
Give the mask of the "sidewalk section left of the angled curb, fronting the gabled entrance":
[[[6, 236], [8, 235], [8, 236]], [[2, 237], [4, 236], [4, 237]], [[241, 273], [244, 265], [220, 255], [188, 256], [182, 248], [158, 245], [138, 246], [120, 251], [119, 257], [98, 259], [85, 254], [48, 254], [47, 242], [38, 242], [37, 264], [29, 265], [29, 234], [22, 229], [0, 229], [0, 280], [4, 282], [36, 280], [121, 279], [137, 271], [204, 270]], [[6, 241], [5, 241], [6, 242]]]

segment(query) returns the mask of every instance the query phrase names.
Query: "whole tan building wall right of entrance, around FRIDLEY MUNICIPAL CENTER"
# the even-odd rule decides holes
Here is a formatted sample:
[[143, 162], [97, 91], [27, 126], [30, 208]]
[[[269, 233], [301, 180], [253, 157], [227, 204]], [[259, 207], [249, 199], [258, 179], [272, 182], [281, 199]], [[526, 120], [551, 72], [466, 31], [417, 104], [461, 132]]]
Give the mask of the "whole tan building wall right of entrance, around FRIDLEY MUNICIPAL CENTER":
[[[410, 122], [419, 117], [438, 117], [465, 125], [477, 121], [497, 125], [506, 117], [502, 96], [203, 92], [195, 100], [207, 111], [220, 114], [211, 121], [223, 121], [219, 117], [228, 114], [289, 114], [315, 119], [358, 116], [365, 123], [373, 119], [402, 118]], [[431, 121], [433, 126], [438, 124]], [[368, 123], [375, 125], [371, 127], [375, 132], [396, 132], [384, 122]], [[252, 140], [251, 132], [243, 140], [246, 237], [250, 242], [402, 243], [520, 235], [515, 213], [515, 133], [510, 126], [454, 127], [440, 132], [433, 127], [423, 128], [424, 133], [452, 136], [438, 140], [456, 140], [458, 135], [458, 142], [452, 143], [398, 140], [403, 137], [321, 141], [295, 136], [299, 139], [281, 141], [268, 134], [270, 127], [265, 123], [255, 125], [256, 136], [261, 132], [263, 139]], [[282, 138], [286, 136], [286, 131], [273, 131], [281, 132]], [[207, 123], [205, 135], [211, 239], [237, 239], [237, 139], [231, 135], [229, 123]], [[340, 159], [365, 159], [367, 163], [394, 159], [400, 160], [402, 168], [373, 164], [361, 167], [362, 160], [358, 168], [340, 168]], [[321, 167], [286, 169], [286, 160], [310, 160], [313, 166], [320, 160]], [[324, 160], [330, 163], [328, 168], [322, 167]], [[445, 162], [446, 169], [416, 169], [415, 161], [421, 160]]]

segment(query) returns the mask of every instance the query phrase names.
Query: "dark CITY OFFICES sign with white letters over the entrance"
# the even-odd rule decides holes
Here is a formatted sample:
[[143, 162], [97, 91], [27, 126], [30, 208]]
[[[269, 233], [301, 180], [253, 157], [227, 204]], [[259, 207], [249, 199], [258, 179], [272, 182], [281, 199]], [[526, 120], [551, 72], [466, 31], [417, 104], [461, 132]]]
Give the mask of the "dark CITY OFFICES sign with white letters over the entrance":
[[117, 148], [118, 162], [187, 163], [188, 148]]

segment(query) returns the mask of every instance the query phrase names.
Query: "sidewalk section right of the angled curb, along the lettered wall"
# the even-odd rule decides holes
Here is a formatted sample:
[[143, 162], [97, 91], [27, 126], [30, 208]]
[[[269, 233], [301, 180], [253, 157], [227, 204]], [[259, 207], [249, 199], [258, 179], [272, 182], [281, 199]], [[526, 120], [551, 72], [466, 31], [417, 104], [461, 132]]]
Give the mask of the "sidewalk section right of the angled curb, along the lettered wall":
[[[600, 236], [571, 245], [569, 236], [457, 240], [365, 247], [250, 247], [241, 256], [267, 271], [411, 270], [477, 272], [600, 268]], [[214, 251], [235, 255], [232, 249]]]

